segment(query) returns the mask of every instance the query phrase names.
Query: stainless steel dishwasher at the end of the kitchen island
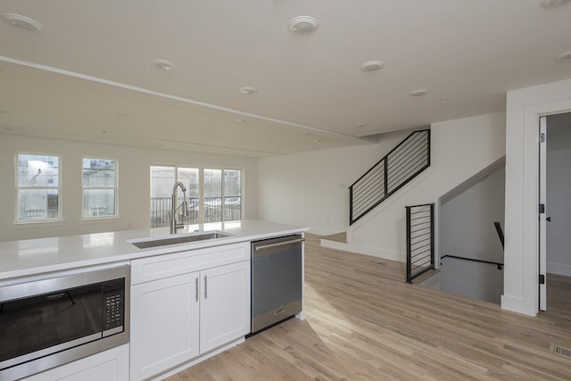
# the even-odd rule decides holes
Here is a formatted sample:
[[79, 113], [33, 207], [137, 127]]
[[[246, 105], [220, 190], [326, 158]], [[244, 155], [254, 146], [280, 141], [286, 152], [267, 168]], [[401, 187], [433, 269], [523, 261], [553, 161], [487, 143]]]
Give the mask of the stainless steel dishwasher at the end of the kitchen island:
[[301, 234], [252, 242], [252, 334], [302, 311]]

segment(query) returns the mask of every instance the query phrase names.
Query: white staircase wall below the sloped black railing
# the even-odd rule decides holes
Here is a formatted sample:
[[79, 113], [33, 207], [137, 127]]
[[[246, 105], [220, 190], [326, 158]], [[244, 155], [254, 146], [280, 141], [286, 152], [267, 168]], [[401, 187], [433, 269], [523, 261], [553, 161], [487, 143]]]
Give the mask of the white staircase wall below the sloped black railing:
[[504, 153], [503, 112], [433, 123], [431, 167], [379, 205], [377, 213], [370, 213], [352, 225], [348, 231], [350, 250], [405, 261], [404, 207], [436, 203], [440, 196], [499, 160]]

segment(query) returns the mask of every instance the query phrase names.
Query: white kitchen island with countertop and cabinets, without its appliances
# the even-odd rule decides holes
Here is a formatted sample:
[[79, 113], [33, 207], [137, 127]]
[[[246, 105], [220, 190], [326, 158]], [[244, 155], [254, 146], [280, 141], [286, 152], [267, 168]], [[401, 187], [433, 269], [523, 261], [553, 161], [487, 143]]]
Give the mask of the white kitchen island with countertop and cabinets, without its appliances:
[[169, 228], [0, 243], [0, 286], [61, 271], [131, 265], [129, 344], [29, 379], [160, 379], [244, 342], [250, 332], [250, 243], [306, 230], [243, 220], [192, 225], [176, 235], [225, 236], [144, 249], [132, 243], [170, 238]]

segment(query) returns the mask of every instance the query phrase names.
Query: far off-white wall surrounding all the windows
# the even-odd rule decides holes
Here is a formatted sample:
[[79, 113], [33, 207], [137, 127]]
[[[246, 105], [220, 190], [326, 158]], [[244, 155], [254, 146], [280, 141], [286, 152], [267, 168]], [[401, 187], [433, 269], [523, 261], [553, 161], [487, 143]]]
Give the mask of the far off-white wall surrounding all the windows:
[[[14, 224], [14, 156], [21, 152], [54, 154], [62, 158], [62, 223]], [[119, 219], [81, 220], [81, 158], [84, 156], [111, 158], [119, 163]], [[0, 135], [0, 241], [148, 228], [151, 164], [244, 170], [244, 218], [257, 218], [257, 160], [253, 158], [3, 134]]]

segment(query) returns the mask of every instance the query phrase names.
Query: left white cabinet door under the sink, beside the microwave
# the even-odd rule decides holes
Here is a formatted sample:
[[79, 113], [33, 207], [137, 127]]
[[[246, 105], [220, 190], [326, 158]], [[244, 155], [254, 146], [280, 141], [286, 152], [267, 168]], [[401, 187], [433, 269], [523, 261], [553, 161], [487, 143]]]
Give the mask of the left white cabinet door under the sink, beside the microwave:
[[199, 353], [199, 273], [131, 286], [131, 380]]

